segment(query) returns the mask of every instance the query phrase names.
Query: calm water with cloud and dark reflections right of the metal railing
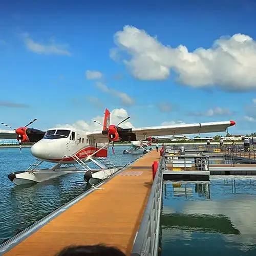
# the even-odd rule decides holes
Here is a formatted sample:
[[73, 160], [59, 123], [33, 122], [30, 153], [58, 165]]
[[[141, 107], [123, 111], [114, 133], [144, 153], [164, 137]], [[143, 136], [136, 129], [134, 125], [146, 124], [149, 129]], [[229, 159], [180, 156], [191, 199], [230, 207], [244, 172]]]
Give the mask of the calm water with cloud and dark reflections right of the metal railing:
[[162, 256], [256, 255], [256, 179], [163, 187]]

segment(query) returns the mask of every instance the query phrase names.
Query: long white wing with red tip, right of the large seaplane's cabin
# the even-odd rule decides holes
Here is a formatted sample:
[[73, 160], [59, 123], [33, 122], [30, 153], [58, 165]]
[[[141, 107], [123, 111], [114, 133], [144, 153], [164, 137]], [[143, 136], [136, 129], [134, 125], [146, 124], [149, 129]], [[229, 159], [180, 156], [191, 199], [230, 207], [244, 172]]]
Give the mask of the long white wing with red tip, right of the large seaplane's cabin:
[[[225, 132], [227, 127], [232, 126], [234, 124], [236, 124], [236, 122], [234, 121], [222, 121], [152, 126], [143, 128], [132, 128], [127, 130], [130, 130], [129, 132], [133, 136], [132, 140], [145, 140], [146, 137], [152, 136]], [[89, 139], [94, 138], [96, 143], [103, 143], [109, 141], [108, 137], [106, 135], [102, 135], [101, 132], [87, 133], [87, 136]]]

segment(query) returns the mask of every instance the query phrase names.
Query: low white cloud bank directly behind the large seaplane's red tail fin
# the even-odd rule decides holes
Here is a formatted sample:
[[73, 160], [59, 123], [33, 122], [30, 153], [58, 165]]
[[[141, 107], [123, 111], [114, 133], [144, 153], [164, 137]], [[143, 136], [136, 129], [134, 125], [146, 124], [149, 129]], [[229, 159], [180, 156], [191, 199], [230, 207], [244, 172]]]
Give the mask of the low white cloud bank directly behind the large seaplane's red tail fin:
[[[114, 109], [111, 111], [110, 123], [118, 124], [123, 119], [128, 117], [127, 111], [124, 109]], [[82, 131], [92, 132], [92, 131], [102, 131], [102, 125], [95, 123], [93, 120], [98, 121], [103, 124], [104, 117], [96, 116], [90, 121], [78, 120], [73, 124], [57, 124], [56, 127], [66, 127], [66, 128], [76, 128]], [[120, 124], [123, 128], [133, 128], [133, 124], [129, 121], [125, 121]]]

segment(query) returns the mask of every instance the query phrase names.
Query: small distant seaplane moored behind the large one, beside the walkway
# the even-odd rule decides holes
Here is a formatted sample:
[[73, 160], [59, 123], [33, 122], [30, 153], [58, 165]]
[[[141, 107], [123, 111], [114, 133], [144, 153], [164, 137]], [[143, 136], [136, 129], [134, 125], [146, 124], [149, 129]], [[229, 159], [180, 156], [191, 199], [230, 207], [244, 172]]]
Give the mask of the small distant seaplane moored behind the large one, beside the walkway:
[[157, 137], [147, 137], [145, 141], [137, 140], [131, 141], [131, 146], [127, 150], [123, 150], [123, 154], [134, 154], [134, 153], [143, 153], [146, 154], [153, 150], [152, 143], [161, 141], [161, 140], [173, 140], [173, 139], [184, 139], [186, 136], [157, 136]]

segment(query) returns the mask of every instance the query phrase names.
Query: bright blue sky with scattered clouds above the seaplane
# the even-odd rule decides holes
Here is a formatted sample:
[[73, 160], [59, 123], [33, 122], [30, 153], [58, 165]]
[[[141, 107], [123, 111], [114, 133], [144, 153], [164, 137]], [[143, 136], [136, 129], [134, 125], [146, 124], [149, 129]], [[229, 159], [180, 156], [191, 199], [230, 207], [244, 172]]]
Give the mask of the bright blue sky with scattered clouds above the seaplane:
[[[233, 134], [255, 131], [252, 0], [9, 1], [0, 9], [2, 122], [38, 118], [34, 127], [46, 129], [88, 122], [107, 107], [126, 110], [136, 127], [234, 120]], [[196, 50], [219, 38], [210, 53]]]

